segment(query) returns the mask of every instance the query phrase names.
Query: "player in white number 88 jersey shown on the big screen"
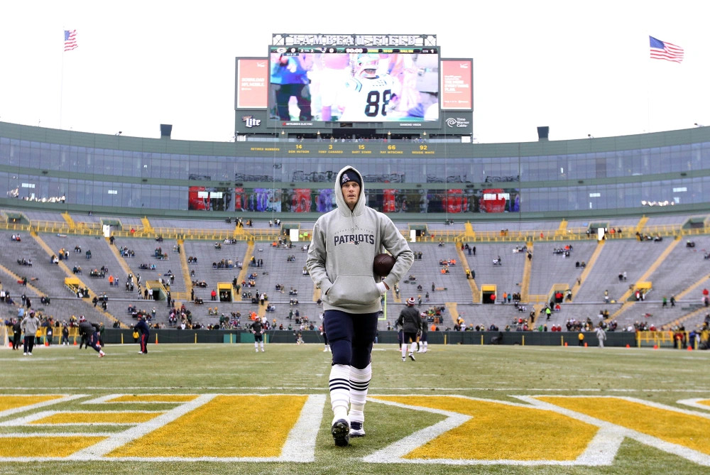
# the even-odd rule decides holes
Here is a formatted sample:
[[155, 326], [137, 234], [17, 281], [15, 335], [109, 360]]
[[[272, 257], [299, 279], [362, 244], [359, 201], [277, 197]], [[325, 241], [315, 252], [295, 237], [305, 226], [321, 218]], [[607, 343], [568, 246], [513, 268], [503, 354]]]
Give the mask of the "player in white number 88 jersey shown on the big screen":
[[380, 56], [363, 53], [353, 60], [352, 77], [346, 82], [346, 99], [341, 121], [383, 121], [390, 111], [394, 78], [378, 74]]

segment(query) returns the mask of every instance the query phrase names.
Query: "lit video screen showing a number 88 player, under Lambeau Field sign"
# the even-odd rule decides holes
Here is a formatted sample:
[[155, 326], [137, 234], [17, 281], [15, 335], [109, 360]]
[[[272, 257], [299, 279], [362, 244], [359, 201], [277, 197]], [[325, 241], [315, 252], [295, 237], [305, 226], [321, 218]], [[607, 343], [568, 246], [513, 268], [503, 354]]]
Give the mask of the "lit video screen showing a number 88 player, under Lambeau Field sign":
[[437, 47], [271, 46], [269, 59], [269, 116], [283, 125], [439, 123]]

